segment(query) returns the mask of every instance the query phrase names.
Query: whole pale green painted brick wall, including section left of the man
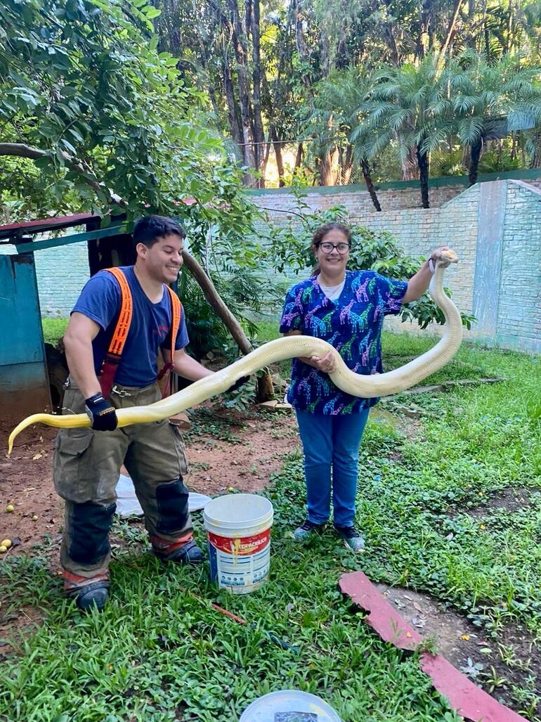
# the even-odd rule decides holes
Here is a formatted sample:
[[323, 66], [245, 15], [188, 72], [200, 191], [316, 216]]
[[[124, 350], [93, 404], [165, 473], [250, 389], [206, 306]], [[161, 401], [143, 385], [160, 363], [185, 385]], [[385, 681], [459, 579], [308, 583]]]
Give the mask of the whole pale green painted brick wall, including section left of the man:
[[[503, 194], [499, 204], [493, 200], [493, 188]], [[480, 319], [469, 335], [506, 348], [541, 352], [540, 188], [541, 180], [535, 179], [528, 183], [493, 181], [467, 189], [441, 186], [431, 189], [430, 209], [417, 207], [418, 188], [390, 188], [379, 193], [382, 212], [371, 207], [366, 191], [351, 187], [310, 191], [306, 201], [313, 209], [343, 204], [352, 222], [374, 231], [390, 231], [411, 256], [426, 256], [439, 245], [452, 246], [460, 263], [447, 271], [446, 285], [459, 309], [475, 312]], [[269, 212], [276, 224], [287, 222], [287, 212], [296, 210], [294, 196], [283, 189], [250, 195], [259, 206], [276, 209]], [[493, 219], [496, 206], [499, 215], [494, 213]], [[294, 221], [295, 216], [289, 218]], [[495, 244], [494, 251], [487, 245], [490, 243]], [[0, 253], [14, 251], [12, 246], [0, 246]], [[480, 260], [494, 256], [498, 257], [499, 280], [490, 264], [485, 267]], [[67, 316], [89, 277], [86, 243], [38, 251], [35, 261], [42, 315]], [[260, 272], [262, 283], [280, 284], [284, 290], [302, 277], [291, 270], [284, 274], [268, 268]], [[269, 310], [278, 312], [276, 307]], [[492, 326], [487, 320], [491, 315]], [[394, 329], [418, 330], [396, 318], [387, 322]]]

